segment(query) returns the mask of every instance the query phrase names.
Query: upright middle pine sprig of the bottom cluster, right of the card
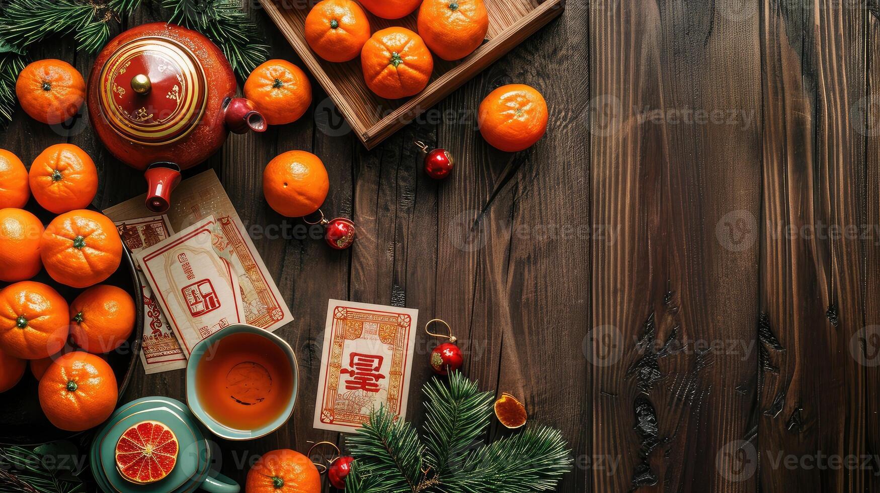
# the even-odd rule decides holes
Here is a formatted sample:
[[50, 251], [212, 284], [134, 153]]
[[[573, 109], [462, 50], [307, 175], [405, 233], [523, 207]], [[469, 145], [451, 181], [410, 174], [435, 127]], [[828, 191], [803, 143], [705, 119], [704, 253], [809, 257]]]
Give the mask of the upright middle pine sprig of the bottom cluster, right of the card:
[[442, 476], [450, 467], [460, 467], [466, 454], [480, 445], [478, 438], [492, 417], [493, 395], [480, 392], [476, 382], [460, 372], [450, 374], [448, 386], [431, 379], [423, 392], [428, 398], [425, 462]]

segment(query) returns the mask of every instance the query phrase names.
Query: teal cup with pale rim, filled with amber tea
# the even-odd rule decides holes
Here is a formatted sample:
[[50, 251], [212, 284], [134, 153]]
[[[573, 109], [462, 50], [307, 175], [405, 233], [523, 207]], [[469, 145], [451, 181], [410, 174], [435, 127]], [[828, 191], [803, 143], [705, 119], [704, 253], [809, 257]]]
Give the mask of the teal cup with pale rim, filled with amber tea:
[[287, 423], [297, 401], [297, 356], [281, 337], [234, 324], [196, 344], [187, 404], [217, 437], [260, 438]]

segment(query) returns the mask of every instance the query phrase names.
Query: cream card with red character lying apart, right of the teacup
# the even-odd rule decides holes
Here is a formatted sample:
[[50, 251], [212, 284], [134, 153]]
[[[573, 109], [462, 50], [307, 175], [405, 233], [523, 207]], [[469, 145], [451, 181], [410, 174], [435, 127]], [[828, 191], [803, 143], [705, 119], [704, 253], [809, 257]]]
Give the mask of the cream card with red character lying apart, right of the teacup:
[[331, 299], [314, 427], [355, 431], [384, 405], [407, 414], [418, 310]]

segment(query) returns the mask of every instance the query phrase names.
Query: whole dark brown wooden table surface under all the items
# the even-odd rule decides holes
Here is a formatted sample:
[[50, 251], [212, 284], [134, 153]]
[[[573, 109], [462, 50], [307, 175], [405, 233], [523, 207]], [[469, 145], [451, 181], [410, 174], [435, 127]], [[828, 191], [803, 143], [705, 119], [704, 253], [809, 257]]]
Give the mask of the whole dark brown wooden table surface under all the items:
[[[867, 2], [867, 4], [866, 4]], [[524, 398], [563, 430], [576, 468], [561, 490], [880, 491], [880, 18], [868, 0], [571, 0], [561, 18], [429, 114], [365, 151], [313, 111], [233, 136], [216, 169], [246, 224], [270, 210], [262, 166], [322, 158], [325, 210], [356, 245], [256, 239], [296, 321], [294, 418], [231, 444], [258, 454], [340, 442], [312, 429], [327, 298], [448, 320], [483, 388]], [[273, 55], [297, 61], [264, 13]], [[142, 11], [125, 26], [162, 18]], [[91, 69], [70, 43], [40, 48]], [[546, 137], [488, 147], [474, 111], [498, 85], [544, 93]], [[88, 125], [59, 133], [18, 114], [0, 147], [30, 162], [77, 143], [101, 170], [101, 208], [143, 191]], [[419, 139], [457, 158], [420, 170]], [[420, 335], [408, 417], [435, 342]], [[125, 396], [183, 395], [182, 372], [138, 375]], [[502, 435], [493, 427], [491, 436]]]

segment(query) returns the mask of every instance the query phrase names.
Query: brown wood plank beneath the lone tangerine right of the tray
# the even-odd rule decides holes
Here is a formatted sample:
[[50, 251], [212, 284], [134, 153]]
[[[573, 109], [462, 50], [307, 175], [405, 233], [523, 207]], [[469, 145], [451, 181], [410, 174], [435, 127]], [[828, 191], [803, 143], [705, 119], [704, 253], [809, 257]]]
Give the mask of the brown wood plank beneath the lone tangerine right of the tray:
[[[488, 240], [505, 247], [502, 254], [488, 247], [481, 269], [491, 281], [483, 303], [504, 311], [501, 323], [487, 326], [486, 332], [498, 340], [501, 351], [497, 392], [523, 399], [534, 423], [562, 430], [575, 467], [558, 490], [578, 492], [591, 490], [590, 472], [616, 473], [612, 461], [594, 460], [591, 455], [592, 423], [586, 401], [591, 365], [583, 352], [592, 294], [583, 279], [590, 275], [593, 245], [610, 238], [590, 227], [590, 133], [587, 115], [581, 111], [590, 102], [588, 78], [546, 74], [558, 70], [560, 60], [567, 61], [565, 70], [572, 74], [589, 73], [583, 56], [589, 42], [583, 29], [587, 18], [587, 4], [568, 4], [565, 16], [503, 57], [493, 77], [477, 86], [481, 92], [475, 94], [477, 99], [501, 84], [537, 88], [546, 95], [553, 115], [544, 138], [528, 151], [506, 154], [490, 149], [476, 129], [463, 129], [478, 151], [475, 164], [485, 158], [495, 166], [510, 166], [502, 177], [510, 180], [495, 186], [497, 192], [487, 204], [497, 213], [481, 223], [484, 231], [493, 230]], [[547, 57], [548, 53], [554, 55]], [[448, 105], [449, 109], [469, 106], [466, 101]], [[495, 436], [509, 434], [495, 424]]]

